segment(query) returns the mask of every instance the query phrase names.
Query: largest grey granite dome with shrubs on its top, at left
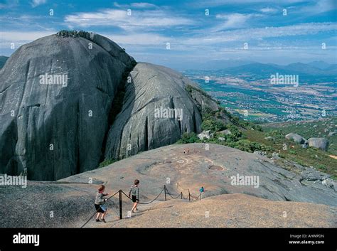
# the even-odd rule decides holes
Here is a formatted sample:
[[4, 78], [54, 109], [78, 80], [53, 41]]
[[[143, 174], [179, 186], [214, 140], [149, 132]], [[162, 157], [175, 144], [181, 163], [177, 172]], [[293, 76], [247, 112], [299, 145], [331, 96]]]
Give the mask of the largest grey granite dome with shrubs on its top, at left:
[[95, 169], [112, 101], [135, 64], [95, 33], [18, 48], [0, 73], [0, 173], [55, 180]]

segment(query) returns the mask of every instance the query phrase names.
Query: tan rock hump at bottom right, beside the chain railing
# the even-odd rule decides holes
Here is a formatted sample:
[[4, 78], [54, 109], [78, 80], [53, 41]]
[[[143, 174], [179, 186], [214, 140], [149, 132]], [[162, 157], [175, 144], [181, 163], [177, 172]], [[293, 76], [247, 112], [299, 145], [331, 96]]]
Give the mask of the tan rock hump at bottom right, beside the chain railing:
[[[141, 207], [139, 207], [141, 208]], [[336, 208], [311, 203], [267, 201], [245, 194], [202, 201], [162, 202], [131, 218], [88, 227], [103, 228], [336, 228]]]

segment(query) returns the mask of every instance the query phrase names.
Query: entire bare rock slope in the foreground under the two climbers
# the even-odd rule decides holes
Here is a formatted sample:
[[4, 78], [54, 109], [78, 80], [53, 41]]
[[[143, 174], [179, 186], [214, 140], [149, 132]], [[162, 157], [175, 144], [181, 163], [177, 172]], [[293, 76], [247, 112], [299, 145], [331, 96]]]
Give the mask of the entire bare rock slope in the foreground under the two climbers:
[[[190, 154], [183, 154], [187, 148]], [[259, 176], [259, 186], [233, 186], [230, 177], [237, 174]], [[107, 202], [107, 223], [90, 220], [85, 228], [337, 226], [336, 183], [325, 173], [304, 169], [295, 174], [264, 156], [215, 144], [209, 150], [204, 144], [164, 146], [59, 181], [0, 186], [0, 225], [79, 228], [95, 213], [99, 184], [111, 194], [119, 189], [127, 193], [135, 178], [141, 181], [141, 202], [154, 199], [164, 185], [185, 198], [189, 189], [191, 201], [169, 196], [164, 201], [161, 194], [158, 201], [139, 205], [132, 218], [117, 220], [114, 197]], [[205, 188], [202, 201], [195, 199], [200, 186]], [[123, 205], [125, 217], [131, 202], [123, 197]]]

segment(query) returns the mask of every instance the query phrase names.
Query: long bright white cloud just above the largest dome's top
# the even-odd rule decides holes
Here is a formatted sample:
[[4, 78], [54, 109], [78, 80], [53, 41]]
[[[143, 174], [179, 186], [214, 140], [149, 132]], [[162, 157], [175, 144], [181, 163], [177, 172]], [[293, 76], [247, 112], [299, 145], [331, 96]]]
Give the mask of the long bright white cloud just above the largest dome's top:
[[103, 9], [97, 12], [81, 12], [65, 16], [68, 26], [117, 26], [126, 31], [134, 28], [169, 28], [193, 24], [193, 20], [177, 16], [163, 10], [132, 11], [128, 16], [127, 10]]

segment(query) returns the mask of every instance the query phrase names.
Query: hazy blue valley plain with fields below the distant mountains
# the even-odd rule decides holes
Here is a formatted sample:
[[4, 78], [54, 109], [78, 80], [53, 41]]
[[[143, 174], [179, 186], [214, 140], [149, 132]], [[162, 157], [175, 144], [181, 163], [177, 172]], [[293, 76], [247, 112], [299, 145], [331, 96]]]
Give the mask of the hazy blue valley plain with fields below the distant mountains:
[[[263, 68], [262, 68], [263, 69]], [[337, 116], [336, 79], [301, 75], [298, 85], [271, 83], [269, 75], [226, 70], [186, 70], [184, 74], [242, 119], [255, 122], [321, 119]]]

